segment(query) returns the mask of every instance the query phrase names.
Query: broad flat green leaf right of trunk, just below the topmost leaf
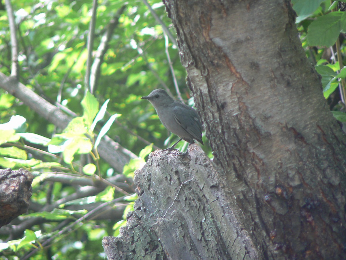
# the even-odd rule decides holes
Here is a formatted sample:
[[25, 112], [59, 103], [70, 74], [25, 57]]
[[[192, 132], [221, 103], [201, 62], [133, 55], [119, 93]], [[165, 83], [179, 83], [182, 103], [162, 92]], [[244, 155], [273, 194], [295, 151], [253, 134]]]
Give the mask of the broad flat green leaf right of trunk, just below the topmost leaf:
[[331, 12], [318, 17], [308, 27], [307, 40], [310, 46], [333, 45], [342, 31], [342, 12]]

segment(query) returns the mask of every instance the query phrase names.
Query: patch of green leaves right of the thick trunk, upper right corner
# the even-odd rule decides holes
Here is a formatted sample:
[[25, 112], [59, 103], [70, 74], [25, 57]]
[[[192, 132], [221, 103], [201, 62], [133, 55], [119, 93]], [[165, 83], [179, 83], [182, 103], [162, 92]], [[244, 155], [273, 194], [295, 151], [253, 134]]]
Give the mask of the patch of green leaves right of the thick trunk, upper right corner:
[[[344, 2], [344, 1], [343, 1]], [[307, 57], [322, 77], [323, 94], [333, 115], [345, 122], [346, 68], [344, 66], [346, 12], [338, 1], [292, 1], [297, 27]], [[341, 34], [340, 34], [341, 33]]]

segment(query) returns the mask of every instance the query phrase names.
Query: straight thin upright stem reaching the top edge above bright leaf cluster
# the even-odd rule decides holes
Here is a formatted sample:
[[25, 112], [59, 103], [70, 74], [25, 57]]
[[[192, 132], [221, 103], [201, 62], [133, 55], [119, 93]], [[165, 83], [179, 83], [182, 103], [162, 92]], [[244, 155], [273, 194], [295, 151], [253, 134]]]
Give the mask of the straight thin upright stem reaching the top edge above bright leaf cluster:
[[90, 69], [92, 64], [92, 50], [94, 45], [94, 36], [95, 36], [95, 26], [96, 26], [96, 16], [97, 16], [97, 0], [93, 0], [92, 5], [92, 15], [89, 26], [89, 37], [88, 37], [88, 59], [86, 60], [86, 73], [85, 73], [85, 90], [90, 91], [93, 94], [93, 90], [90, 88]]

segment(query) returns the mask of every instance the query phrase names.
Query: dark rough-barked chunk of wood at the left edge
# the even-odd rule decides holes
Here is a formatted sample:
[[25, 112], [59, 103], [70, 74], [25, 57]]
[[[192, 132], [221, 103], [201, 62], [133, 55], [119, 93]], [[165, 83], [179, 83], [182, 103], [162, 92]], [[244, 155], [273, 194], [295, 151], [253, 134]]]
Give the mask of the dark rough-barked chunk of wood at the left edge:
[[27, 212], [33, 175], [24, 169], [0, 170], [0, 227]]

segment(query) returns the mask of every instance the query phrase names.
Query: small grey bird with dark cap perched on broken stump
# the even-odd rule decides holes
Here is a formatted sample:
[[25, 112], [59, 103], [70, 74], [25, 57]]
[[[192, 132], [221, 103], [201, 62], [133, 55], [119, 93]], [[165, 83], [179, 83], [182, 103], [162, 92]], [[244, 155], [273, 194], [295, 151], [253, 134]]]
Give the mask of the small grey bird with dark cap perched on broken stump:
[[[161, 88], [155, 89], [148, 96], [141, 98], [148, 99], [155, 107], [158, 118], [160, 118], [164, 127], [180, 137], [169, 149], [173, 149], [182, 139], [189, 142], [189, 146], [194, 143], [193, 139], [203, 145], [201, 120], [196, 110], [191, 106], [174, 101]], [[188, 150], [186, 150], [187, 152]]]

